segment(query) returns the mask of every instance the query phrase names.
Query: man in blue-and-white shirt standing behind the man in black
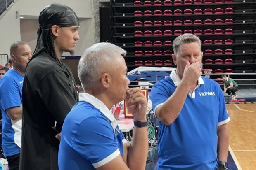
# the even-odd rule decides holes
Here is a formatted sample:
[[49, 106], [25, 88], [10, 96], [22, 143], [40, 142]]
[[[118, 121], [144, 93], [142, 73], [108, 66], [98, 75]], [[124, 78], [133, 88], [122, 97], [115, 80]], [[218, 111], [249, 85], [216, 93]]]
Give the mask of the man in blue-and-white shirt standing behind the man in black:
[[19, 170], [21, 147], [22, 85], [32, 50], [26, 42], [17, 41], [10, 47], [12, 69], [0, 79], [2, 111], [2, 148], [9, 170]]

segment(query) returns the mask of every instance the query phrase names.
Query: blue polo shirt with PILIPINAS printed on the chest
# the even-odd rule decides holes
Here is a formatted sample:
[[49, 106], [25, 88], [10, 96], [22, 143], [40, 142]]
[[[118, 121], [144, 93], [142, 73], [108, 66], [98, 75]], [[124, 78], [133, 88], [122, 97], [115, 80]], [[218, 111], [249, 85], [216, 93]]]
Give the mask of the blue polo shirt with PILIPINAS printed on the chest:
[[[152, 87], [154, 112], [175, 91], [180, 78], [173, 70]], [[217, 128], [230, 120], [220, 86], [200, 77], [175, 121], [166, 126], [159, 121], [158, 170], [215, 170]]]

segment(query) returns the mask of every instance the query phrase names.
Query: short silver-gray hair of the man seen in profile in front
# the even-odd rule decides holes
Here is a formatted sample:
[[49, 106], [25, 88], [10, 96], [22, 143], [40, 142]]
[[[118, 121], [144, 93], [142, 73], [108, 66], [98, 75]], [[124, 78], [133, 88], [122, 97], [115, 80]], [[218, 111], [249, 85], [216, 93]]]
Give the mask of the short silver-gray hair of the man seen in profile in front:
[[104, 72], [104, 65], [118, 55], [125, 55], [126, 51], [114, 44], [101, 42], [87, 48], [78, 64], [78, 77], [83, 89], [91, 86], [100, 79]]

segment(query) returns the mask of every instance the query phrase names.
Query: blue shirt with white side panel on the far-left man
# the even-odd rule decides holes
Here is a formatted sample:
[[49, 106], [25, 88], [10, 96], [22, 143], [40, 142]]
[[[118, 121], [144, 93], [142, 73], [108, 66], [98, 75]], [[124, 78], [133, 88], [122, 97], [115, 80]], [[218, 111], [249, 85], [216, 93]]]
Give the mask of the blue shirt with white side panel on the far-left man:
[[13, 121], [6, 110], [22, 104], [24, 76], [10, 69], [0, 79], [0, 108], [2, 111], [2, 148], [5, 156], [19, 154], [21, 147], [22, 120]]

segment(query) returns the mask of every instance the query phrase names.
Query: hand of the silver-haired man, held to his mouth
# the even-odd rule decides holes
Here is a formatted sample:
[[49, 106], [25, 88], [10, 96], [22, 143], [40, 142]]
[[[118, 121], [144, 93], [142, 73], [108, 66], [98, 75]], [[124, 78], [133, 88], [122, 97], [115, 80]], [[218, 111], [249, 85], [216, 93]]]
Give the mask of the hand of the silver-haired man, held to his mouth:
[[133, 117], [136, 121], [147, 121], [147, 98], [143, 95], [140, 88], [129, 88], [126, 91], [127, 109], [133, 113]]

